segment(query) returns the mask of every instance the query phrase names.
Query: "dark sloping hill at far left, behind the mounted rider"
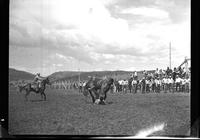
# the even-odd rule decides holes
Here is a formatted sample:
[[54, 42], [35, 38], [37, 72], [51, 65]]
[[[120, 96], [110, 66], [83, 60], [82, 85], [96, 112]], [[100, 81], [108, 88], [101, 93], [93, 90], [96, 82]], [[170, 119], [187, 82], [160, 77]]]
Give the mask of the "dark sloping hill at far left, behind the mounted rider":
[[33, 80], [34, 77], [32, 73], [9, 68], [9, 81]]

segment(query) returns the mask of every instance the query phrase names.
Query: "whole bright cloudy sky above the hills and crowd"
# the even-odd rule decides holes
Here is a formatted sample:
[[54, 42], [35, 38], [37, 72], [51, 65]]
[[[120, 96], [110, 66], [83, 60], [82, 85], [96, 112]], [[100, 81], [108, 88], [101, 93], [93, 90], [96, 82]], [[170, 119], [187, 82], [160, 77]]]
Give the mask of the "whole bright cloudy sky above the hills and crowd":
[[9, 67], [154, 70], [190, 58], [190, 0], [10, 0]]

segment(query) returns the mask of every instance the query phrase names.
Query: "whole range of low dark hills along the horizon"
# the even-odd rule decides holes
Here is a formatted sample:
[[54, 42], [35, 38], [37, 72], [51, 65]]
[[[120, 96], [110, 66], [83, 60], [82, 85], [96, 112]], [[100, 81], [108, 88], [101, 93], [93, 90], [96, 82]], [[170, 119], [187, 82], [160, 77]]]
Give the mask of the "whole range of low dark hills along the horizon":
[[[148, 71], [148, 72], [153, 72], [153, 71]], [[109, 76], [109, 77], [113, 77], [116, 80], [119, 80], [119, 79], [127, 79], [128, 77], [130, 77], [131, 73], [132, 73], [132, 71], [122, 71], [122, 70], [91, 71], [91, 72], [59, 71], [59, 72], [55, 72], [55, 73], [49, 75], [49, 77], [53, 81], [65, 81], [65, 80], [78, 81], [79, 74], [80, 74], [81, 81], [88, 80], [88, 76], [95, 76], [95, 77]], [[138, 73], [138, 78], [141, 79], [142, 71], [138, 71], [137, 73]], [[35, 77], [35, 75], [33, 75], [29, 72], [9, 68], [9, 81], [33, 80], [34, 77]]]

